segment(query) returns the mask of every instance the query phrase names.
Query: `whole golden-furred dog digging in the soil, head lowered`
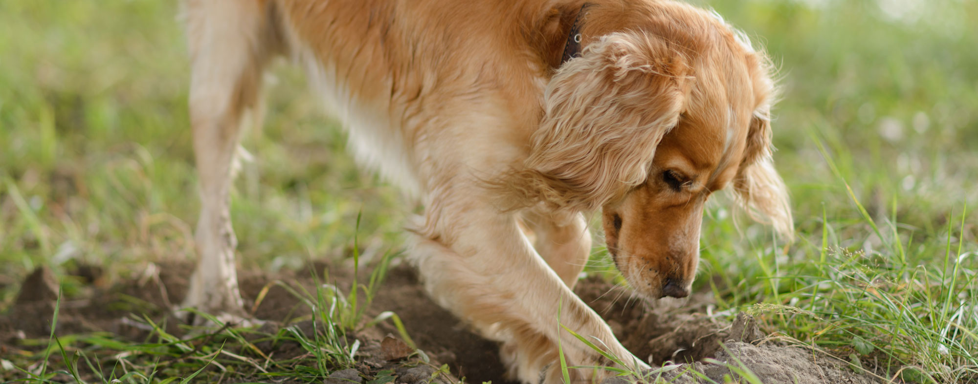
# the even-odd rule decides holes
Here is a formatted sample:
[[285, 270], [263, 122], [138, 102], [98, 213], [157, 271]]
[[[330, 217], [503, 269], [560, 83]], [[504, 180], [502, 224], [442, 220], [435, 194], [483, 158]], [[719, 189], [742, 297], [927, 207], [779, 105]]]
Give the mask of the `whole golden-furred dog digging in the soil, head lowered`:
[[[271, 59], [304, 65], [349, 148], [416, 202], [411, 260], [430, 295], [501, 343], [513, 379], [648, 366], [572, 291], [601, 211], [621, 274], [684, 297], [703, 206], [733, 186], [790, 235], [772, 164], [766, 56], [668, 0], [187, 0], [200, 262], [184, 302], [244, 316], [229, 214], [240, 127]], [[558, 324], [559, 317], [559, 324]], [[572, 369], [574, 380], [612, 372]]]

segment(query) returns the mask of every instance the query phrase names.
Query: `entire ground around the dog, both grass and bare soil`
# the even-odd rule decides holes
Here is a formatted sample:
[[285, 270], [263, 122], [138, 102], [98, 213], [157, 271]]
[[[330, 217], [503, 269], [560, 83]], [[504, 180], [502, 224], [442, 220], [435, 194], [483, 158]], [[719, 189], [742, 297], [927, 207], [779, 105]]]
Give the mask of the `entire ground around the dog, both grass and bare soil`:
[[[779, 69], [775, 161], [796, 240], [715, 193], [692, 299], [632, 298], [597, 227], [579, 292], [639, 356], [698, 360], [659, 372], [676, 382], [781, 382], [790, 367], [832, 383], [978, 383], [978, 2], [695, 3]], [[401, 266], [420, 207], [356, 166], [286, 61], [265, 81], [232, 203], [244, 293], [269, 323], [194, 331], [166, 313], [199, 209], [179, 14], [0, 2], [0, 380], [336, 382], [352, 368], [372, 384], [500, 383], [495, 346]], [[728, 342], [734, 325], [750, 342]]]

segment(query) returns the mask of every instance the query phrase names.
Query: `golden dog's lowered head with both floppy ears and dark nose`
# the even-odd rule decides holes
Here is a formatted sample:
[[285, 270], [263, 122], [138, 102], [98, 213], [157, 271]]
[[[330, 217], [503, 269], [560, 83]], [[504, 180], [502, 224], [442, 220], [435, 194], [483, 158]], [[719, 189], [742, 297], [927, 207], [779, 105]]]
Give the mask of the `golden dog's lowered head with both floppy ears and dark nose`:
[[771, 161], [771, 66], [704, 11], [612, 8], [587, 10], [581, 56], [548, 84], [519, 187], [557, 209], [602, 209], [608, 250], [633, 287], [683, 297], [712, 192], [733, 185], [752, 217], [790, 236]]

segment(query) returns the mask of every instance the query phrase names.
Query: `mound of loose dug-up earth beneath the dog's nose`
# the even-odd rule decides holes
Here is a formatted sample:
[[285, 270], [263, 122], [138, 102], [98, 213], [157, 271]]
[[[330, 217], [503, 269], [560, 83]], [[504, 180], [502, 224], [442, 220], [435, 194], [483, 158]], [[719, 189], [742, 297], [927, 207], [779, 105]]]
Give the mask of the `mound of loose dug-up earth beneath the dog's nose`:
[[[867, 374], [856, 374], [846, 364], [810, 349], [765, 339], [757, 321], [738, 314], [733, 322], [709, 316], [709, 295], [694, 294], [689, 301], [634, 298], [624, 288], [582, 281], [575, 291], [608, 321], [622, 344], [652, 366], [646, 381], [661, 378], [678, 384], [727, 382], [738, 370], [749, 370], [768, 384], [868, 384]], [[622, 299], [622, 297], [627, 299]], [[724, 317], [726, 318], [726, 317]], [[708, 362], [704, 360], [709, 359]], [[694, 370], [699, 374], [693, 373]], [[604, 384], [620, 383], [605, 380]], [[738, 381], [739, 382], [739, 381]]]

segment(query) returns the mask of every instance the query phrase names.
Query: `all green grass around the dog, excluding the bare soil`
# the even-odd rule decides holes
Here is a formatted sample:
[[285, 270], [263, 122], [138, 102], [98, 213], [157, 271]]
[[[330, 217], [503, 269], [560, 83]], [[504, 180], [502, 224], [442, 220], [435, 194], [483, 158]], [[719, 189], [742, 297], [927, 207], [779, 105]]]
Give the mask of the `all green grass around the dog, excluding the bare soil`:
[[[188, 69], [174, 3], [0, 2], [0, 308], [38, 265], [94, 264], [119, 280], [144, 260], [194, 257]], [[698, 288], [715, 292], [718, 311], [753, 312], [784, 339], [888, 378], [978, 382], [978, 3], [698, 3], [778, 63], [775, 156], [798, 230], [784, 244], [717, 198]], [[399, 192], [357, 169], [294, 68], [274, 73], [264, 127], [244, 139], [257, 160], [244, 164], [232, 205], [248, 218], [235, 222], [244, 268], [340, 257], [358, 249], [356, 233], [366, 246], [397, 248]], [[80, 289], [63, 282], [67, 297]], [[349, 295], [320, 293], [309, 295], [320, 308]], [[235, 332], [156, 332], [137, 344], [59, 335], [44, 354], [115, 362], [102, 367], [115, 372], [105, 381], [182, 380], [204, 365], [251, 366], [225, 352], [259, 361]], [[130, 353], [109, 359], [119, 351]], [[0, 359], [36, 368], [44, 356]], [[333, 366], [291, 363], [310, 375]], [[284, 364], [272, 366], [294, 366]], [[54, 371], [69, 375], [64, 364], [45, 374]]]

